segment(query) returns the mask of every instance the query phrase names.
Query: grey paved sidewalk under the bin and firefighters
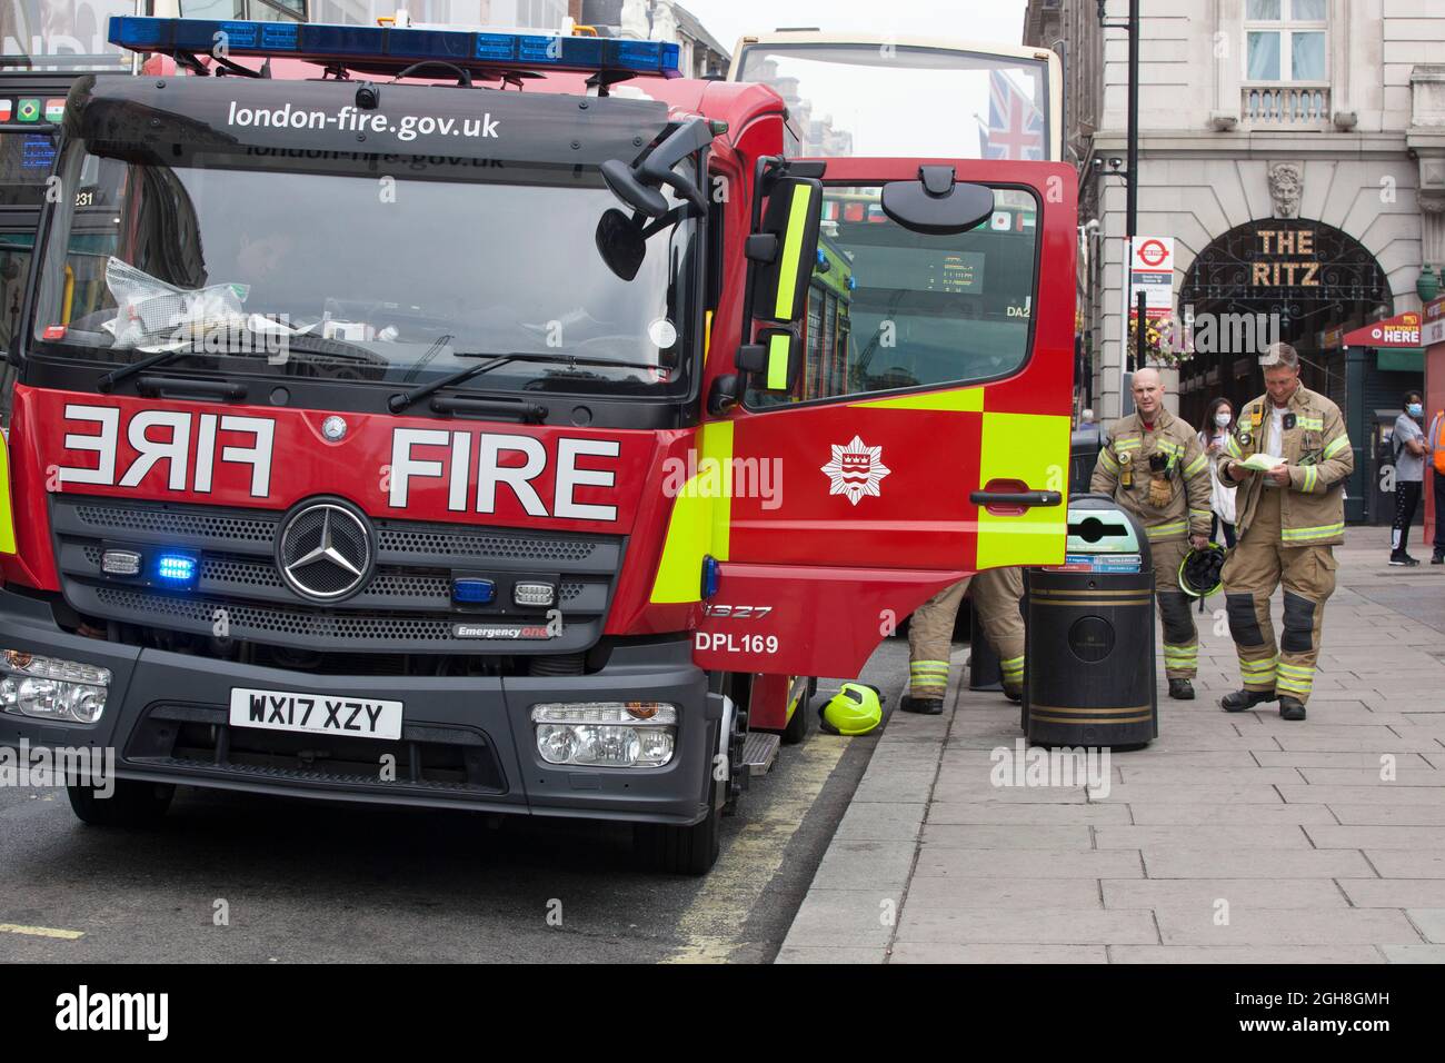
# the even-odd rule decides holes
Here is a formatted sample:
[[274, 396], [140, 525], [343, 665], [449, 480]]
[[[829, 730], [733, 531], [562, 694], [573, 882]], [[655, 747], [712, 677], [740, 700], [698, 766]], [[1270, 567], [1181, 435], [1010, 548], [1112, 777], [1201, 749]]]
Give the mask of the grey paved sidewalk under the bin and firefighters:
[[945, 713], [890, 717], [777, 962], [1445, 962], [1445, 567], [1389, 568], [1387, 537], [1335, 551], [1308, 720], [1218, 709], [1217, 596], [1199, 697], [1170, 701], [1160, 659], [1160, 736], [1110, 758], [1107, 797], [993, 785], [1019, 709], [959, 690], [955, 648]]

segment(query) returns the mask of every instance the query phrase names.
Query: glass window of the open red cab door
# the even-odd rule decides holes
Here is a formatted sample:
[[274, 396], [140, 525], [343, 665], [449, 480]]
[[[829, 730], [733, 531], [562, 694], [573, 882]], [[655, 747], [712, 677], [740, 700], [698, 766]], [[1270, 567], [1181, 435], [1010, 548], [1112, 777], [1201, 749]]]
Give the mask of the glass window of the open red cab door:
[[975, 229], [926, 236], [892, 221], [881, 185], [824, 191], [822, 231], [792, 393], [750, 389], [767, 409], [991, 380], [1029, 357], [1039, 204], [994, 189]]

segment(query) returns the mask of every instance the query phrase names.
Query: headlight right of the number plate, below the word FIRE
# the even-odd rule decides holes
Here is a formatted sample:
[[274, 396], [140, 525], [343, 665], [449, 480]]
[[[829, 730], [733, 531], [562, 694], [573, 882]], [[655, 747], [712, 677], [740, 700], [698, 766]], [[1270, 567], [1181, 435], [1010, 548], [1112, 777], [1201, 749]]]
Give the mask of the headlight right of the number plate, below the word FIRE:
[[672, 759], [678, 706], [663, 701], [558, 701], [532, 706], [548, 764], [660, 768]]

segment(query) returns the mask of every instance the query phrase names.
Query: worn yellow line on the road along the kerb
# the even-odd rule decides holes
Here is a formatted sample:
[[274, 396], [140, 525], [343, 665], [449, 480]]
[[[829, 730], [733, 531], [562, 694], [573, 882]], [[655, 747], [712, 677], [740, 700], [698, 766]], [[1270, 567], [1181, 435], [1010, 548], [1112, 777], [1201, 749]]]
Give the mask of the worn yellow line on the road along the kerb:
[[733, 950], [746, 944], [740, 934], [747, 917], [782, 866], [788, 843], [847, 749], [848, 739], [840, 735], [811, 735], [802, 749], [780, 754], [779, 759], [788, 762], [773, 771], [782, 777], [769, 778], [779, 778], [783, 787], [767, 804], [750, 808], [749, 795], [743, 795], [740, 814], [749, 823], [678, 918], [682, 944], [663, 963], [727, 963]]

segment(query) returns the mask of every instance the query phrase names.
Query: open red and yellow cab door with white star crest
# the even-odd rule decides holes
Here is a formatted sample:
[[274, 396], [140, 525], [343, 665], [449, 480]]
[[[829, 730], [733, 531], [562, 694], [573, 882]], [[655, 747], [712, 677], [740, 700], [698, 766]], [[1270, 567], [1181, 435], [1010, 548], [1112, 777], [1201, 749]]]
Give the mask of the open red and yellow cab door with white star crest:
[[736, 369], [712, 380], [702, 450], [731, 483], [691, 537], [718, 563], [695, 659], [855, 675], [965, 574], [1064, 560], [1077, 178], [997, 161], [779, 172], [759, 181], [744, 341], [712, 351]]

